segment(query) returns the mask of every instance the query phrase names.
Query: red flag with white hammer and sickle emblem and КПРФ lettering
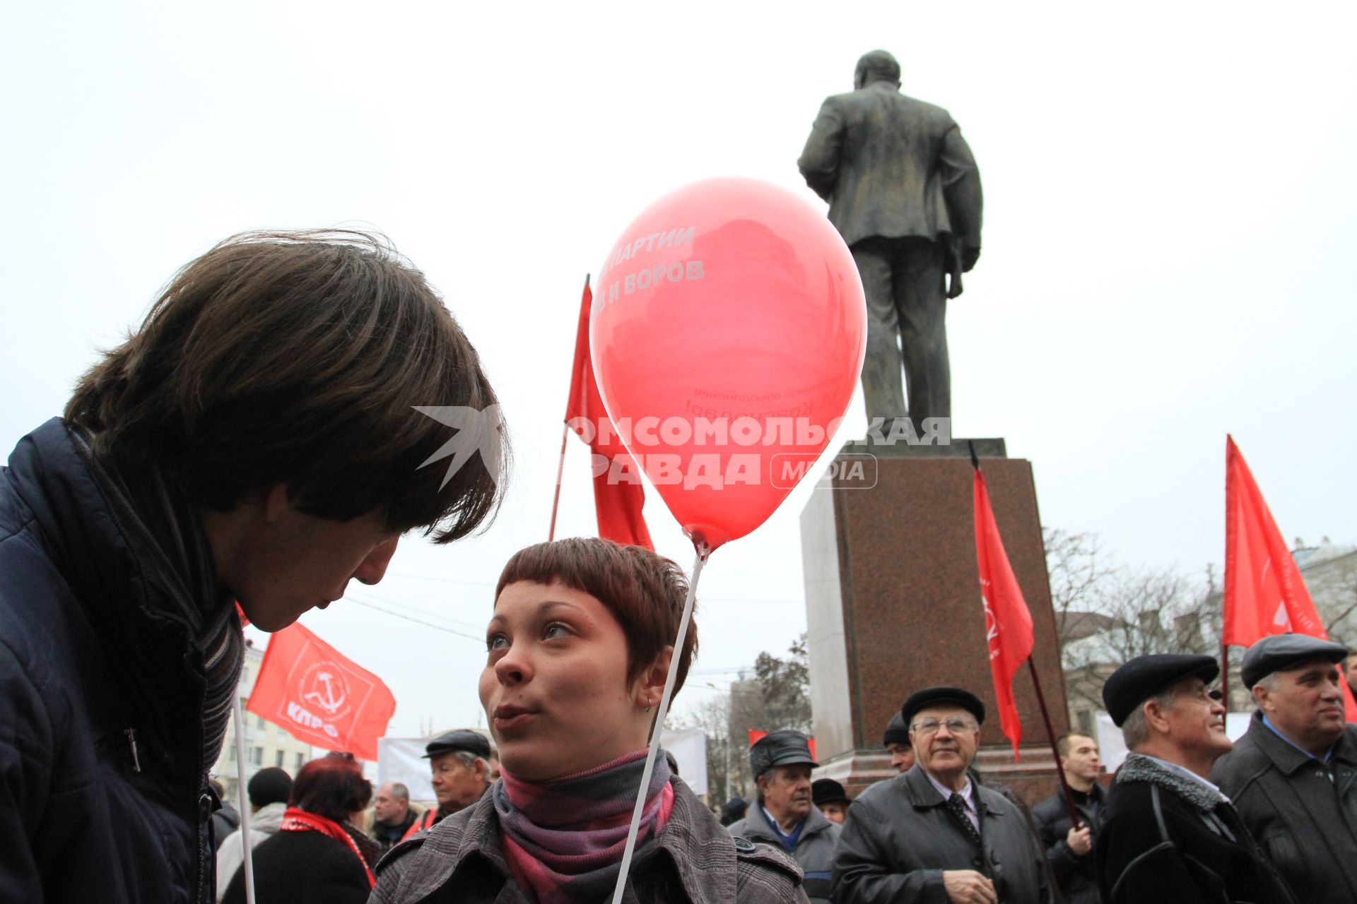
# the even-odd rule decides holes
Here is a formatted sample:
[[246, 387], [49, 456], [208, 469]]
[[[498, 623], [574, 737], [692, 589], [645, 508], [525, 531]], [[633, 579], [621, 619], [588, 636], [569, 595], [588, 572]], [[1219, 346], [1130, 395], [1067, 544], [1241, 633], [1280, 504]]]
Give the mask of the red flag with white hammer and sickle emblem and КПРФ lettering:
[[377, 759], [396, 698], [299, 622], [269, 638], [246, 709], [300, 741]]

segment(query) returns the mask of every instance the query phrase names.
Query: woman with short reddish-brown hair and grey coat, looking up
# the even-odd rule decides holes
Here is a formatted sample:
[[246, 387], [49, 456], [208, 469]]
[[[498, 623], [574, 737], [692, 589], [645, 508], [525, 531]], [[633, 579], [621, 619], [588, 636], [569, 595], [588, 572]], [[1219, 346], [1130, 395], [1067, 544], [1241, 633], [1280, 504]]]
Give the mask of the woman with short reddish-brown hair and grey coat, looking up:
[[[440, 890], [487, 904], [609, 901], [687, 591], [670, 560], [607, 539], [540, 543], [510, 558], [480, 676], [501, 781], [392, 848], [372, 903], [414, 904]], [[692, 625], [674, 693], [696, 638]], [[806, 899], [794, 861], [733, 839], [660, 756], [624, 900]]]

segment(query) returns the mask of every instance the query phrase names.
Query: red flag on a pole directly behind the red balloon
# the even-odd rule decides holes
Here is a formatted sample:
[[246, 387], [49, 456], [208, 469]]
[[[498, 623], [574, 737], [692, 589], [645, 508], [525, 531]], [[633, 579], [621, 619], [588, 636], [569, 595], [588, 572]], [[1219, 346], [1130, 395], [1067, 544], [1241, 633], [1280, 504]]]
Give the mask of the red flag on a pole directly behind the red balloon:
[[[641, 514], [646, 504], [646, 491], [641, 484], [641, 470], [631, 453], [622, 445], [612, 422], [598, 394], [594, 382], [593, 362], [589, 359], [589, 309], [593, 293], [585, 282], [585, 294], [579, 301], [579, 327], [575, 331], [575, 363], [570, 375], [570, 400], [566, 403], [566, 422], [579, 417], [571, 424], [581, 439], [593, 449], [594, 510], [598, 515], [598, 535], [615, 539], [626, 546], [645, 546], [654, 550], [646, 519]], [[585, 432], [582, 423], [593, 430]], [[609, 427], [608, 436], [597, 435], [600, 424]]]

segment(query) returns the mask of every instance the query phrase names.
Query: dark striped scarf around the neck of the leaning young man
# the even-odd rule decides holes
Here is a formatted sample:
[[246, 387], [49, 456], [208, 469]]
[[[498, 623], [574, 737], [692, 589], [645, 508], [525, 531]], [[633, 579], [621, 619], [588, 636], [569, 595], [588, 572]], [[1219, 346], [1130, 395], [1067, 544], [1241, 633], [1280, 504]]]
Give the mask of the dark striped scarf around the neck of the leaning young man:
[[138, 481], [113, 472], [90, 447], [90, 438], [72, 428], [71, 436], [118, 525], [151, 558], [168, 596], [168, 614], [183, 622], [202, 649], [206, 697], [202, 707], [202, 768], [221, 754], [231, 721], [231, 703], [244, 664], [246, 638], [235, 600], [217, 585], [212, 546], [202, 519], [186, 500], [175, 499], [160, 473], [149, 469]]

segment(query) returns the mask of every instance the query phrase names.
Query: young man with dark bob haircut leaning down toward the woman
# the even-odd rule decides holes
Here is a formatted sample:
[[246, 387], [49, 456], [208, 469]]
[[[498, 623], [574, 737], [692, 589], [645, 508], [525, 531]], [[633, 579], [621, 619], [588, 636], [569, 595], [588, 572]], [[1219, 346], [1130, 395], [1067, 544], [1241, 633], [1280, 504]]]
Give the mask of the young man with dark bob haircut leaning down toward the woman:
[[280, 630], [403, 533], [464, 537], [506, 457], [384, 239], [246, 233], [180, 270], [0, 470], [0, 901], [209, 903], [236, 602]]

